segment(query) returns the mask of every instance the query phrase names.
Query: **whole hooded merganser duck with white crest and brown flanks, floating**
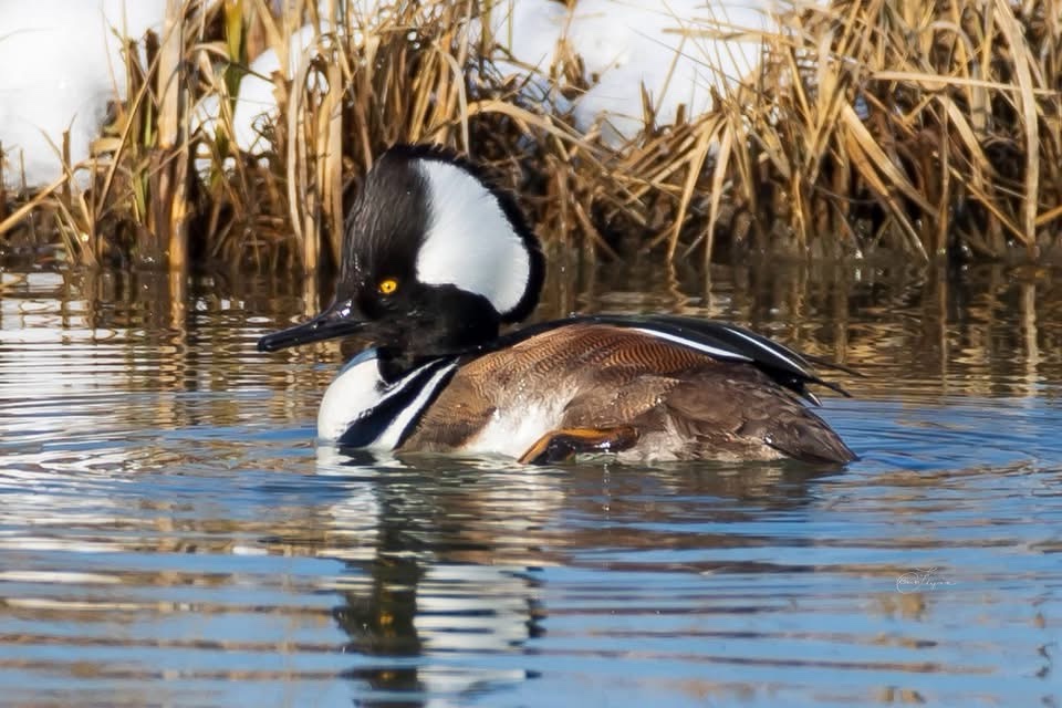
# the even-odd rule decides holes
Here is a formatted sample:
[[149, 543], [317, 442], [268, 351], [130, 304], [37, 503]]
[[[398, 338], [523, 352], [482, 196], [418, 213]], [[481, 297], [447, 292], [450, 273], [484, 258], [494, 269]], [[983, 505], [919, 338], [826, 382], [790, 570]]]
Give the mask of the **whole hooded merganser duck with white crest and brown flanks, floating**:
[[844, 388], [745, 327], [675, 314], [516, 326], [539, 302], [541, 244], [514, 196], [446, 148], [383, 152], [341, 250], [332, 303], [258, 342], [372, 344], [324, 392], [322, 444], [528, 465], [856, 459], [809, 391]]

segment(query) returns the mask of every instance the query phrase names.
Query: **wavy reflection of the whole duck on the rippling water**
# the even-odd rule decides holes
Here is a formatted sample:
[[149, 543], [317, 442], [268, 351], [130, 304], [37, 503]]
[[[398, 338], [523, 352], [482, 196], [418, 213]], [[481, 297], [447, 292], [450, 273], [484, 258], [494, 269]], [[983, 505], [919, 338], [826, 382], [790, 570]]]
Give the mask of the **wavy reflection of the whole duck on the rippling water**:
[[[831, 473], [799, 464], [743, 465], [736, 473], [720, 465], [550, 470], [415, 461], [319, 451], [319, 473], [361, 497], [331, 510], [335, 535], [325, 551], [343, 558], [350, 574], [333, 614], [356, 657], [345, 676], [360, 684], [358, 705], [465, 705], [534, 678], [523, 656], [546, 631], [543, 569], [577, 566], [582, 553], [604, 549], [676, 548], [681, 534], [624, 528], [681, 523], [693, 498], [715, 507], [702, 508], [701, 520], [733, 519], [746, 503], [756, 508], [750, 514], [803, 506], [808, 482]], [[662, 503], [670, 497], [685, 501]], [[684, 543], [727, 543], [720, 534], [685, 535]]]

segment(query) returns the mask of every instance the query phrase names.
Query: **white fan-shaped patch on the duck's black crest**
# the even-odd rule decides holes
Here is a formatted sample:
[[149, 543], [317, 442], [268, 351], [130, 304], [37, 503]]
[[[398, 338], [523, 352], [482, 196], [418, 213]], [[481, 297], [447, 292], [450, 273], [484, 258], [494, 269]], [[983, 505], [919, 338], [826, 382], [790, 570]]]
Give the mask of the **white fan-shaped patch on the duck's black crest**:
[[498, 198], [466, 169], [436, 159], [417, 163], [428, 184], [430, 222], [417, 256], [417, 278], [487, 298], [513, 310], [531, 278], [531, 257]]

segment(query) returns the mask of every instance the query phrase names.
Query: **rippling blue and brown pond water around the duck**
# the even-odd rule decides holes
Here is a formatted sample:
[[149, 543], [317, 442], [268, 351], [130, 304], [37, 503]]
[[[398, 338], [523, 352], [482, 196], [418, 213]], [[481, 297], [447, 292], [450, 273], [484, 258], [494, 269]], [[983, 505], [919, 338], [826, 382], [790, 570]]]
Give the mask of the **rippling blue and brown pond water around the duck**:
[[312, 441], [336, 345], [254, 351], [290, 284], [9, 269], [0, 704], [1062, 702], [1058, 273], [564, 280], [545, 312], [856, 367], [823, 415], [862, 459], [341, 458]]

